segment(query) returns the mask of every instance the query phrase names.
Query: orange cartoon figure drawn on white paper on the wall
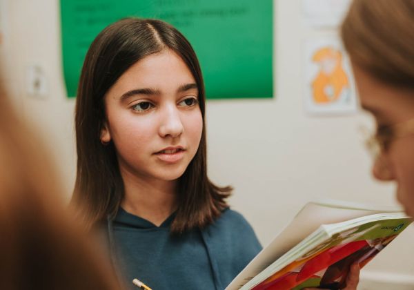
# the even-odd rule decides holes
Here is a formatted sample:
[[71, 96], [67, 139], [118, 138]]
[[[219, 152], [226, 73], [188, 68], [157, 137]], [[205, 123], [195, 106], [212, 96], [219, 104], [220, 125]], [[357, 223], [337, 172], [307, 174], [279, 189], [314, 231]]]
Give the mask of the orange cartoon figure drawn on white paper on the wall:
[[350, 89], [343, 67], [342, 52], [324, 47], [315, 52], [312, 61], [319, 66], [319, 72], [312, 82], [315, 104], [329, 104], [346, 98]]

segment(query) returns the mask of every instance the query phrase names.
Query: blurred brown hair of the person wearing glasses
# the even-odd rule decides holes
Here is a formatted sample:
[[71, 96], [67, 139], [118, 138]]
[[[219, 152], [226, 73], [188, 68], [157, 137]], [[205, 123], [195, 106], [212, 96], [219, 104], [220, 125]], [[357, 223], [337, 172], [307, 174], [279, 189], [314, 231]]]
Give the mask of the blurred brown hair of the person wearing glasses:
[[342, 24], [353, 64], [393, 86], [414, 88], [414, 1], [355, 0]]

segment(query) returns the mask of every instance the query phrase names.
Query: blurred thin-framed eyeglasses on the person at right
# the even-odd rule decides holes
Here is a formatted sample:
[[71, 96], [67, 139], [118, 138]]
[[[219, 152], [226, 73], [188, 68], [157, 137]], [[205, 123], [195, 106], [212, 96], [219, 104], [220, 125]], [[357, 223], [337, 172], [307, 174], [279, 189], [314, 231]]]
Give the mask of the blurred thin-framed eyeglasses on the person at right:
[[[364, 133], [366, 135], [366, 130]], [[366, 139], [366, 147], [373, 157], [377, 157], [380, 153], [386, 152], [395, 139], [412, 134], [414, 134], [414, 119], [394, 125], [379, 126], [377, 131]]]

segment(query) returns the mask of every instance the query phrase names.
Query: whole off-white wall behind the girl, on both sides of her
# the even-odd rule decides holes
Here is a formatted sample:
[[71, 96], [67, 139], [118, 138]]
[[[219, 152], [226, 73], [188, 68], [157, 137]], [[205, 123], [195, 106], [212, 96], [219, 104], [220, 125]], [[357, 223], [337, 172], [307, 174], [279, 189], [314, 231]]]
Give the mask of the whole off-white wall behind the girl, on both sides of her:
[[[9, 10], [6, 77], [14, 104], [43, 128], [68, 198], [75, 180], [75, 102], [66, 98], [63, 86], [59, 1], [1, 1]], [[250, 221], [263, 244], [309, 200], [394, 203], [393, 184], [379, 184], [371, 177], [371, 160], [357, 131], [359, 124], [372, 124], [371, 119], [363, 113], [310, 117], [304, 110], [304, 40], [335, 31], [306, 28], [301, 14], [299, 0], [275, 0], [274, 99], [208, 101], [207, 106], [210, 178], [235, 187], [230, 204]], [[45, 71], [44, 99], [26, 93], [30, 64]], [[405, 258], [413, 240], [411, 226], [368, 264], [362, 278], [393, 282], [404, 277], [404, 282], [413, 282], [414, 261]]]

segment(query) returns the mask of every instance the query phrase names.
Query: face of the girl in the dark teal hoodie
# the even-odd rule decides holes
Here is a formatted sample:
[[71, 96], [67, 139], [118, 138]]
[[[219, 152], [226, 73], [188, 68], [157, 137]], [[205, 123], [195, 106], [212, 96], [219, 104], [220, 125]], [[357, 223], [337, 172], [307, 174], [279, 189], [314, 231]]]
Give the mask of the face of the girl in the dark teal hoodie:
[[121, 175], [177, 180], [199, 147], [203, 120], [195, 79], [164, 50], [124, 72], [105, 96], [101, 141], [115, 144]]

